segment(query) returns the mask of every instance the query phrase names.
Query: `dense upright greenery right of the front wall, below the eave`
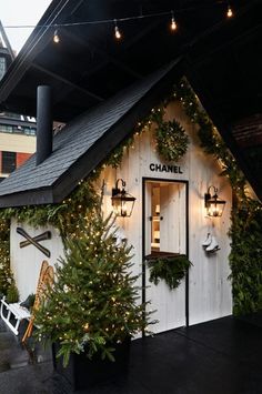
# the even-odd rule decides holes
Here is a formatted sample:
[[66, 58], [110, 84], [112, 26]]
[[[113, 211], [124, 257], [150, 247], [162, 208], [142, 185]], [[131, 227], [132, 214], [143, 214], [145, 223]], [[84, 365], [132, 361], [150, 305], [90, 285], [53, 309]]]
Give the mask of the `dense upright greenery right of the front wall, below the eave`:
[[254, 200], [233, 206], [229, 256], [236, 315], [262, 310], [262, 210]]

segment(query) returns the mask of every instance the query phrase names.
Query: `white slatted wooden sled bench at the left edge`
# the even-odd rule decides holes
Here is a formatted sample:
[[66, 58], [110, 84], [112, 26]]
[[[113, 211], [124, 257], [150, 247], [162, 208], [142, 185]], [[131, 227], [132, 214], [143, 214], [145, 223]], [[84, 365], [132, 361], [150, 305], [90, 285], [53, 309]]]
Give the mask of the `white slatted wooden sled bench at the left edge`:
[[[6, 316], [3, 313], [4, 307], [7, 311]], [[31, 313], [26, 307], [21, 306], [20, 303], [8, 304], [6, 297], [3, 297], [1, 300], [1, 317], [14, 335], [18, 335], [21, 321], [23, 319], [30, 320]]]

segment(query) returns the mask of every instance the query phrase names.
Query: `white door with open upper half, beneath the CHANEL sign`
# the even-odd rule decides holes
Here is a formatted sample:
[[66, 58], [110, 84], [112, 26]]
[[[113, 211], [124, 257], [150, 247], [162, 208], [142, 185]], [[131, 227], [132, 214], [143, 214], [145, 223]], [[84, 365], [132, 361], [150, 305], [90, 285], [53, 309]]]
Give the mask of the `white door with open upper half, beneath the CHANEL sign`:
[[[144, 185], [144, 254], [187, 252], [187, 185], [182, 182], [145, 181]], [[157, 310], [152, 325], [154, 333], [185, 325], [185, 280], [170, 290], [164, 281], [158, 285], [149, 282], [145, 264], [145, 301]]]

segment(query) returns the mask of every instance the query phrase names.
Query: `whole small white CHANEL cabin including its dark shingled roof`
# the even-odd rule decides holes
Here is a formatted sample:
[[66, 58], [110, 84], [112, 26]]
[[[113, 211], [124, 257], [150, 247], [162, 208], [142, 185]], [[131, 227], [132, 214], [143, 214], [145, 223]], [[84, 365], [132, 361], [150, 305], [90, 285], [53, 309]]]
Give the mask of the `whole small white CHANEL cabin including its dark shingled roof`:
[[[61, 203], [132, 134], [138, 122], [167, 97], [179, 77], [175, 62], [169, 64], [67, 124], [54, 137], [52, 152], [43, 161], [36, 164], [37, 152], [3, 181], [0, 206]], [[99, 185], [103, 184], [104, 213], [112, 211], [115, 184], [121, 188], [124, 181], [125, 190], [135, 198], [132, 215], [118, 218], [117, 224], [122, 236], [133, 245], [133, 270], [141, 274], [140, 284], [143, 285], [141, 301], [151, 300], [150, 307], [157, 310], [153, 317], [159, 323], [153, 326], [154, 332], [232, 313], [228, 279], [230, 184], [226, 178], [220, 176], [219, 162], [203, 152], [195, 125], [179, 101], [169, 103], [164, 119], [175, 119], [189, 137], [189, 148], [182, 159], [178, 162], [161, 159], [152, 124], [134, 135], [121, 164], [117, 169], [104, 166], [97, 181]], [[222, 216], [212, 218], [206, 214], [204, 195], [208, 190], [212, 193], [216, 189], [226, 204]], [[40, 236], [38, 241], [43, 233], [46, 239]], [[213, 242], [210, 251], [203, 245], [208, 238]], [[145, 256], [161, 253], [185, 254], [192, 263], [175, 290], [170, 290], [163, 281], [158, 285], [149, 282]], [[42, 260], [54, 264], [62, 254], [58, 229], [50, 225], [33, 229], [12, 220], [11, 267], [21, 299], [36, 291]]]

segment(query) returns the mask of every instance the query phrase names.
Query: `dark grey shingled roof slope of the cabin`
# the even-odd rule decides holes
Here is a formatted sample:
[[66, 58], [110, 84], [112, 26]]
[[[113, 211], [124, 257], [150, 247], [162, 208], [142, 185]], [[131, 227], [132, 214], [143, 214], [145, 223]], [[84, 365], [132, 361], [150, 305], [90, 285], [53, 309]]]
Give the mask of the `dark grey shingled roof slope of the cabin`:
[[62, 201], [162, 99], [179, 70], [180, 60], [173, 61], [68, 123], [48, 159], [36, 165], [32, 155], [0, 184], [0, 206]]

